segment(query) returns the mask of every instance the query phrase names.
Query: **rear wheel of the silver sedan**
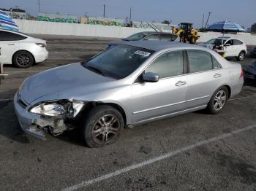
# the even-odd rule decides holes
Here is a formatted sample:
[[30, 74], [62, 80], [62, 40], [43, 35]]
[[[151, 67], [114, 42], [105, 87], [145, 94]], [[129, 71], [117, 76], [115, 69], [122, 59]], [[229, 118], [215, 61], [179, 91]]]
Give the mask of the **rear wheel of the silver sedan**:
[[227, 87], [219, 87], [208, 102], [207, 110], [210, 114], [218, 114], [222, 111], [228, 99]]

